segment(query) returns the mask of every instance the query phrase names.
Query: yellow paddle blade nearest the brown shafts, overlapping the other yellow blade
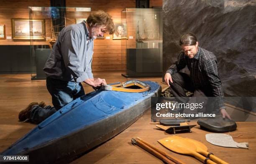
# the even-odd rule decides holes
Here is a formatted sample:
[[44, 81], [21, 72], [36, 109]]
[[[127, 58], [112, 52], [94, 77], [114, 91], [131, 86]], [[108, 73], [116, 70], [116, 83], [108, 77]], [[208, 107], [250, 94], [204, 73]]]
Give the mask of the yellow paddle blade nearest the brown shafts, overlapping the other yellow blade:
[[169, 136], [158, 140], [158, 142], [174, 152], [193, 156], [195, 155], [195, 145], [183, 138], [180, 138], [179, 136]]

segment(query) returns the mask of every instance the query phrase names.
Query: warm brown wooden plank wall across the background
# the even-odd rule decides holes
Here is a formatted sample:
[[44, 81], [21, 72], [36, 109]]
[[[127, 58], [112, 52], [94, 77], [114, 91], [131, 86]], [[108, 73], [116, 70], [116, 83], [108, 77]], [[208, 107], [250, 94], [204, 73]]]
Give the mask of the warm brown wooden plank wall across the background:
[[[104, 10], [112, 15], [114, 22], [121, 22], [121, 11], [124, 8], [135, 8], [136, 0], [66, 0], [67, 7], [91, 7], [92, 10]], [[28, 6], [50, 6], [49, 0], [0, 0], [0, 24], [5, 24], [6, 36], [12, 36], [11, 18], [29, 18]], [[162, 0], [150, 0], [150, 7], [162, 6]], [[46, 20], [46, 36], [50, 36], [47, 28], [50, 21]], [[131, 35], [131, 34], [128, 34]], [[128, 40], [129, 45], [135, 46], [134, 39]], [[107, 35], [106, 35], [107, 36]], [[95, 40], [93, 71], [124, 70], [125, 56], [121, 55], [121, 40]], [[47, 44], [34, 42], [33, 44]], [[30, 45], [30, 41], [0, 40], [0, 45]], [[122, 60], [123, 59], [123, 60]]]

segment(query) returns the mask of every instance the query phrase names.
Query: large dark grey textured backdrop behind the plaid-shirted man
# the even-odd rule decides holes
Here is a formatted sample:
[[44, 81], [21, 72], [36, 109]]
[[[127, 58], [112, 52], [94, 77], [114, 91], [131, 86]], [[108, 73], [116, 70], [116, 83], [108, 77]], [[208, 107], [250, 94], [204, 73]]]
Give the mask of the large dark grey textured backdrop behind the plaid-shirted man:
[[164, 0], [164, 73], [181, 50], [180, 36], [191, 32], [217, 56], [225, 96], [256, 96], [255, 16], [255, 0]]

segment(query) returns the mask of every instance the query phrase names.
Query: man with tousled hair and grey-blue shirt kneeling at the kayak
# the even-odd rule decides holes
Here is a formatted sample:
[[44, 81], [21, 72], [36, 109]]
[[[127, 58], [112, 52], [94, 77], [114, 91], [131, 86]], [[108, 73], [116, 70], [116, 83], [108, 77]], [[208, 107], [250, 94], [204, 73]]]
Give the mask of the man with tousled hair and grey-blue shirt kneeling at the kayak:
[[106, 85], [105, 79], [93, 78], [92, 74], [93, 41], [106, 32], [113, 34], [115, 28], [111, 16], [104, 11], [93, 12], [87, 21], [68, 25], [61, 30], [44, 67], [46, 86], [54, 107], [46, 106], [44, 102], [30, 103], [20, 111], [20, 121], [44, 121], [67, 103], [85, 94], [81, 82], [95, 89]]

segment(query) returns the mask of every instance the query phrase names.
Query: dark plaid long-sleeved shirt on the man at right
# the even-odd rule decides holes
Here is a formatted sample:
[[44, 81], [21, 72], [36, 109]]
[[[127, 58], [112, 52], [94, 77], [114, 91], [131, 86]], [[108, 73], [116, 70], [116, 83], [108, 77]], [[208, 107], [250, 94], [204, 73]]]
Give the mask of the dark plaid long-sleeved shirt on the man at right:
[[168, 68], [166, 73], [171, 75], [179, 72], [181, 69], [188, 67], [190, 78], [195, 88], [205, 88], [212, 91], [212, 95], [217, 98], [219, 108], [225, 108], [224, 94], [221, 86], [221, 80], [218, 75], [218, 65], [216, 56], [198, 46], [197, 54], [194, 58], [189, 58], [181, 51], [178, 60]]

